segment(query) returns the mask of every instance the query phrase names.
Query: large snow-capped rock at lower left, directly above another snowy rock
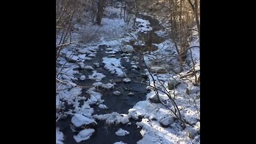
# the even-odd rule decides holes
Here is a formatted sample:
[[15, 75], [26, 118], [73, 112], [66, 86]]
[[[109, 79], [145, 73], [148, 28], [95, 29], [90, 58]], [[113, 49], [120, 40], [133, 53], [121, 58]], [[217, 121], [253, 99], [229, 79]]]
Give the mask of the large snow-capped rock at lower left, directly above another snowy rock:
[[88, 117], [85, 117], [81, 114], [75, 114], [72, 119], [71, 122], [76, 126], [76, 127], [80, 127], [82, 125], [97, 125], [97, 122], [95, 122], [93, 119], [90, 119]]

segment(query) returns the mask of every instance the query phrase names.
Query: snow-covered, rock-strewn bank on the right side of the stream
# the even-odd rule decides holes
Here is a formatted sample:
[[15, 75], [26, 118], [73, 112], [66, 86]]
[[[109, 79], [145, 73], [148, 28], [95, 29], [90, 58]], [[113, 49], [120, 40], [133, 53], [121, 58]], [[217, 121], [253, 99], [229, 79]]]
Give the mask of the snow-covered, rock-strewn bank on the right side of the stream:
[[[156, 34], [164, 36], [165, 32], [156, 31]], [[155, 45], [158, 47], [158, 50], [145, 53], [144, 55], [146, 65], [149, 69], [153, 70], [157, 67], [165, 68], [166, 65], [167, 67], [169, 66], [169, 68], [179, 66], [178, 57], [173, 57], [178, 55], [178, 53], [171, 39], [166, 39], [163, 43]], [[190, 44], [190, 46], [198, 45], [198, 39], [195, 39]], [[192, 48], [191, 52], [195, 63], [195, 70], [199, 70], [198, 47]], [[163, 63], [163, 61], [169, 61], [169, 63]], [[183, 67], [187, 69], [193, 68], [190, 51], [187, 53], [187, 60]], [[175, 100], [175, 103], [180, 109], [182, 118], [186, 119], [191, 125], [186, 124], [186, 128], [182, 129], [182, 123], [175, 118], [175, 115], [170, 110], [174, 110], [174, 106], [167, 94], [158, 90], [159, 99], [165, 103], [165, 105], [163, 105], [159, 103], [156, 93], [151, 91], [147, 94], [147, 100], [140, 101], [133, 108], [129, 109], [129, 115], [133, 118], [142, 118], [141, 122], [137, 122], [137, 125], [142, 127], [141, 134], [143, 135], [143, 139], [137, 143], [200, 143], [200, 87], [194, 86], [192, 83], [195, 82], [195, 76], [178, 78], [175, 88], [169, 89], [170, 79], [175, 77], [175, 75], [180, 77], [187, 74], [189, 72], [187, 69], [184, 69], [181, 73], [178, 72], [178, 74], [173, 73], [175, 69], [165, 74], [156, 74], [154, 73], [156, 71], [153, 71], [153, 77], [156, 87], [170, 93], [172, 99]], [[145, 70], [145, 72], [149, 77], [150, 85], [154, 86], [154, 81], [151, 75], [149, 75], [149, 71]], [[197, 78], [198, 76], [197, 74]], [[165, 120], [170, 116], [174, 117], [175, 121]]]

